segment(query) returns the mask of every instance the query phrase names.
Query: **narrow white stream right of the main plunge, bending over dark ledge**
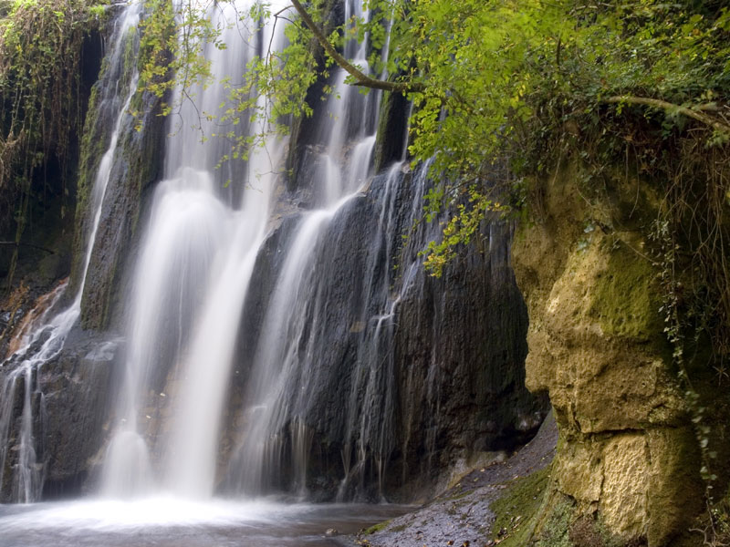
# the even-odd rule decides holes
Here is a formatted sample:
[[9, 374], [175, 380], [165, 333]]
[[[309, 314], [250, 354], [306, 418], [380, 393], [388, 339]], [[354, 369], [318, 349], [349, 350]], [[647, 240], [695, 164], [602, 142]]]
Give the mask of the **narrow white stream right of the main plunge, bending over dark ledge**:
[[[352, 17], [367, 19], [357, 0], [345, 2], [345, 21]], [[368, 40], [350, 40], [345, 55], [367, 72]], [[363, 96], [357, 88], [345, 83], [346, 72], [335, 74], [336, 85], [328, 100], [329, 123], [320, 127], [319, 139], [326, 149], [319, 159], [320, 185], [318, 210], [305, 212], [291, 243], [266, 311], [262, 337], [258, 341], [250, 386], [245, 397], [245, 427], [233, 459], [230, 476], [237, 487], [247, 493], [260, 494], [282, 487], [282, 470], [293, 470], [289, 490], [299, 497], [307, 494], [308, 457], [312, 432], [297, 417], [290, 400], [292, 383], [297, 383], [315, 366], [310, 356], [309, 321], [321, 302], [313, 263], [318, 257], [322, 235], [329, 222], [348, 201], [356, 196], [371, 168], [375, 147], [374, 121], [377, 118], [378, 93]], [[317, 312], [314, 312], [315, 316]], [[306, 382], [302, 389], [306, 389]], [[287, 426], [288, 424], [288, 426]], [[291, 462], [285, 460], [287, 436], [291, 440]]]

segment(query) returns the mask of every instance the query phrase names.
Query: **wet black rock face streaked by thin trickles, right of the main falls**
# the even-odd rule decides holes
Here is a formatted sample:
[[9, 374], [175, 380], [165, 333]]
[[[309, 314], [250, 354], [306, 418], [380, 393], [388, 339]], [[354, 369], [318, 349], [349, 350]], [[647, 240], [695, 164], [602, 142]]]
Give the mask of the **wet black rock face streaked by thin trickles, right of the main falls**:
[[[270, 477], [273, 488], [295, 486], [295, 423], [313, 439], [310, 495], [407, 500], [457, 459], [526, 441], [545, 415], [547, 401], [524, 387], [527, 310], [509, 267], [511, 227], [485, 222], [442, 279], [429, 277], [418, 252], [438, 223], [412, 230], [425, 171], [377, 176], [312, 247], [310, 284], [301, 288], [307, 326], [282, 397], [287, 426], [277, 432], [287, 438], [282, 461], [291, 464]], [[297, 222], [282, 223], [256, 264], [246, 349], [235, 366], [238, 403], [255, 355], [254, 325], [266, 314]]]

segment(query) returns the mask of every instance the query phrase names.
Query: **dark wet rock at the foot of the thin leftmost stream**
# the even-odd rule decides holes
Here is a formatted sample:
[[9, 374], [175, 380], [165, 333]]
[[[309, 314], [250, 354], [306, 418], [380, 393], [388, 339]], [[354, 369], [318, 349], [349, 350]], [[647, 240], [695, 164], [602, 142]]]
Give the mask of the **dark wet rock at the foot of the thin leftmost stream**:
[[[48, 334], [50, 334], [48, 332]], [[42, 345], [41, 335], [36, 345]], [[16, 468], [22, 449], [22, 421], [26, 389], [31, 389], [30, 434], [35, 439], [32, 471], [42, 480], [44, 499], [78, 495], [99, 464], [99, 449], [106, 438], [106, 423], [113, 404], [113, 382], [120, 372], [120, 339], [72, 331], [61, 352], [37, 367], [28, 377], [23, 354], [5, 361], [0, 385], [15, 381], [6, 393], [13, 397], [13, 411], [5, 435], [5, 469], [0, 473], [0, 500], [16, 501]], [[16, 373], [20, 372], [18, 376]], [[16, 378], [15, 380], [13, 378]]]

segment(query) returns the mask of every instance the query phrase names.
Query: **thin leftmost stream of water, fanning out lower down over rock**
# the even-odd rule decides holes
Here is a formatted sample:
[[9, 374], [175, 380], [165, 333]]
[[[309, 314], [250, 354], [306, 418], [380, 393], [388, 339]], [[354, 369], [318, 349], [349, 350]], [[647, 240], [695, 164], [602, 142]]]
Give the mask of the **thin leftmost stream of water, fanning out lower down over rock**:
[[[101, 80], [100, 108], [114, 108], [116, 123], [111, 132], [110, 144], [101, 160], [93, 188], [90, 194], [91, 222], [86, 238], [86, 253], [79, 284], [73, 302], [67, 309], [53, 315], [49, 320], [45, 314], [37, 321], [39, 326], [28, 331], [21, 348], [10, 356], [4, 367], [15, 366], [6, 377], [2, 390], [2, 408], [0, 408], [0, 487], [4, 484], [5, 459], [8, 450], [8, 434], [13, 418], [13, 406], [16, 400], [16, 388], [23, 383], [23, 410], [19, 427], [19, 446], [14, 468], [14, 487], [12, 498], [16, 501], [30, 502], [38, 499], [43, 486], [43, 462], [36, 459], [36, 432], [34, 423], [36, 417], [42, 417], [43, 392], [37, 381], [37, 373], [41, 366], [58, 355], [64, 346], [66, 337], [71, 328], [77, 323], [81, 312], [81, 297], [84, 292], [86, 275], [89, 270], [91, 253], [94, 248], [96, 234], [99, 229], [101, 205], [110, 180], [111, 166], [117, 151], [121, 120], [127, 115], [131, 98], [137, 88], [137, 76], [134, 74], [126, 83], [127, 87], [120, 89], [123, 73], [124, 53], [130, 29], [137, 26], [141, 14], [141, 5], [132, 3], [124, 8], [111, 39], [110, 53], [107, 56], [107, 76]], [[53, 308], [62, 291], [58, 291]], [[42, 420], [41, 420], [42, 424]], [[40, 432], [39, 432], [40, 433]]]

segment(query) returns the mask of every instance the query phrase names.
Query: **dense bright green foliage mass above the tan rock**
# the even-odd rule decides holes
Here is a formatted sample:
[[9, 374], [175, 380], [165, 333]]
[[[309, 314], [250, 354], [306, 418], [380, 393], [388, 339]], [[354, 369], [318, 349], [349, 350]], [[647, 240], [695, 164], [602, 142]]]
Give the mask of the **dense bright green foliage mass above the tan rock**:
[[[396, 17], [387, 67], [422, 86], [412, 93], [412, 156], [435, 157], [435, 170], [461, 181], [461, 190], [443, 191], [444, 204], [474, 193], [466, 178], [485, 193], [507, 191], [520, 205], [516, 184], [546, 172], [567, 134], [578, 137], [575, 149], [583, 139], [610, 139], [600, 133], [603, 120], [637, 98], [655, 99], [647, 116], [664, 138], [683, 129], [688, 115], [704, 120], [707, 142], [722, 145], [730, 136], [722, 102], [730, 77], [726, 6], [389, 0], [378, 7]], [[500, 160], [509, 163], [507, 180], [495, 180]], [[460, 209], [464, 225], [483, 214]], [[432, 247], [433, 274], [441, 274], [454, 243], [468, 241], [454, 241], [453, 225], [444, 233], [452, 244]]]

